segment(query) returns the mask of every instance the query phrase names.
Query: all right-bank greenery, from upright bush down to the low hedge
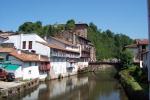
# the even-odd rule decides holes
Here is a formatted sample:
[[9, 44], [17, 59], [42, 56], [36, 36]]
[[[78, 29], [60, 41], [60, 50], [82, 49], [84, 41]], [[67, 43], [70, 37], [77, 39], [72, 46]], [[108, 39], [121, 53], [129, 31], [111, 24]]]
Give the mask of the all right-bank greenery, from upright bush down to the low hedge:
[[120, 57], [120, 82], [131, 100], [148, 100], [148, 75], [145, 68], [133, 65], [131, 52], [124, 50]]

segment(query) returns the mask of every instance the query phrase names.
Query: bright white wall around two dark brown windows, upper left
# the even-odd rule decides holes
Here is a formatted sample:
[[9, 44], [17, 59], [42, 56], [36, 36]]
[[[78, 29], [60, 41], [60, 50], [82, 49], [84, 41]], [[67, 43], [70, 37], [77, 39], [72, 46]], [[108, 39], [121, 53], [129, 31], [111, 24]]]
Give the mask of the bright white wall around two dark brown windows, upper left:
[[[23, 49], [22, 44], [23, 41], [26, 41], [26, 49]], [[32, 49], [29, 49], [29, 41], [32, 41]], [[37, 54], [50, 56], [50, 49], [49, 47], [42, 45], [39, 42], [46, 42], [44, 39], [42, 39], [40, 36], [36, 34], [20, 34], [20, 35], [12, 35], [9, 36], [9, 39], [5, 41], [4, 43], [14, 43], [14, 46], [17, 49], [21, 50], [34, 50]]]

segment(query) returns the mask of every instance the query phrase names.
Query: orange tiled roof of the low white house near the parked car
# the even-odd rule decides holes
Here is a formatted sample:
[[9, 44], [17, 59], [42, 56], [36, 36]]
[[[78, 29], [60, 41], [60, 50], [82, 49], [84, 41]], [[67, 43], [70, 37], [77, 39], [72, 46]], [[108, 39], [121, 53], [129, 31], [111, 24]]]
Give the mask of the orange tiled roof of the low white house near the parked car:
[[[20, 54], [15, 51], [15, 52], [11, 52], [9, 53], [10, 55], [22, 60], [22, 61], [35, 61], [35, 62], [48, 62], [49, 59], [46, 56], [42, 56], [42, 55], [38, 55], [38, 54], [30, 54], [30, 53], [24, 53], [21, 52]], [[40, 56], [40, 57], [39, 57]]]

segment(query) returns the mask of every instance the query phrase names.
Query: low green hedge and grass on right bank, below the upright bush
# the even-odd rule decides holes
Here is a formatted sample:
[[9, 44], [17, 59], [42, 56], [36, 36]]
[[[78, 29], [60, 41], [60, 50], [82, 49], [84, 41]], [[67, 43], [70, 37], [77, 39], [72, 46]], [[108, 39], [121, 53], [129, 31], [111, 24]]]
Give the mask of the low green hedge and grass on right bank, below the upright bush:
[[148, 81], [144, 69], [130, 66], [119, 72], [120, 82], [131, 100], [148, 100]]

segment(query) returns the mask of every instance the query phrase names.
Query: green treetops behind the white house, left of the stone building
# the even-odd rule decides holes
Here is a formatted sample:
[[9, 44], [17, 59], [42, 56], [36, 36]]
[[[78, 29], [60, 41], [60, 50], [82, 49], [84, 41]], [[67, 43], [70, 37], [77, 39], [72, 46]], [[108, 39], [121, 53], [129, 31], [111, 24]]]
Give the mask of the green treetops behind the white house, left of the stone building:
[[18, 31], [20, 33], [36, 33], [40, 35], [41, 37], [49, 37], [54, 36], [55, 34], [58, 34], [60, 31], [64, 30], [64, 25], [45, 25], [42, 26], [42, 23], [40, 21], [37, 22], [25, 22], [22, 25], [19, 26]]

